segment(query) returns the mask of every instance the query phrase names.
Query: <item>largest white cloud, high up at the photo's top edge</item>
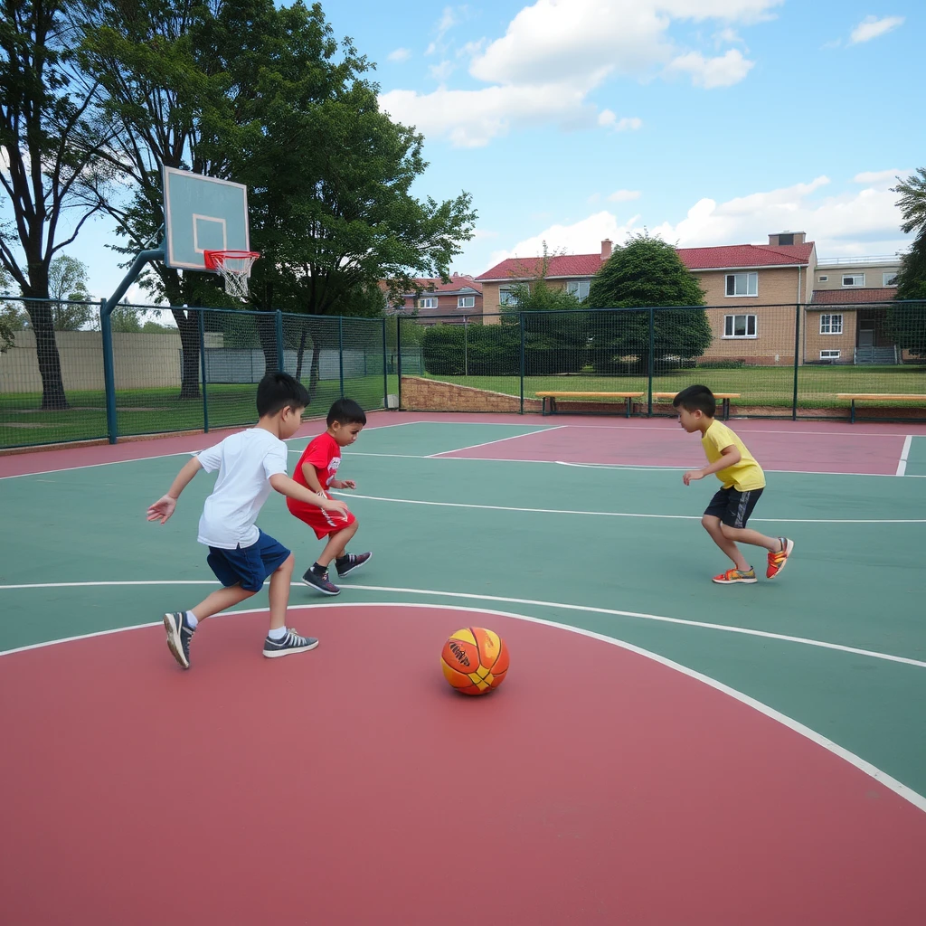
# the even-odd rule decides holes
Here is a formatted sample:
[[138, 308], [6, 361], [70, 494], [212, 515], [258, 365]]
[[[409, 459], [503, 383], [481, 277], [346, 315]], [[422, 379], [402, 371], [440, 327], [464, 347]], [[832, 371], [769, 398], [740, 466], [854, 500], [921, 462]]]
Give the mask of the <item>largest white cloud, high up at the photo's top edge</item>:
[[[469, 74], [485, 84], [475, 90], [438, 88], [431, 94], [396, 89], [382, 94], [382, 108], [426, 135], [461, 147], [488, 144], [512, 129], [545, 124], [589, 128], [595, 119], [617, 131], [639, 128], [639, 119], [600, 114], [588, 95], [609, 77], [647, 79], [658, 73], [689, 74], [706, 89], [741, 81], [753, 67], [740, 50], [717, 57], [678, 48], [669, 37], [673, 20], [733, 23], [768, 19], [782, 0], [536, 0], [508, 25], [505, 35], [466, 46]], [[466, 15], [447, 6], [428, 53], [443, 51], [447, 31]], [[460, 55], [462, 56], [462, 55]]]

